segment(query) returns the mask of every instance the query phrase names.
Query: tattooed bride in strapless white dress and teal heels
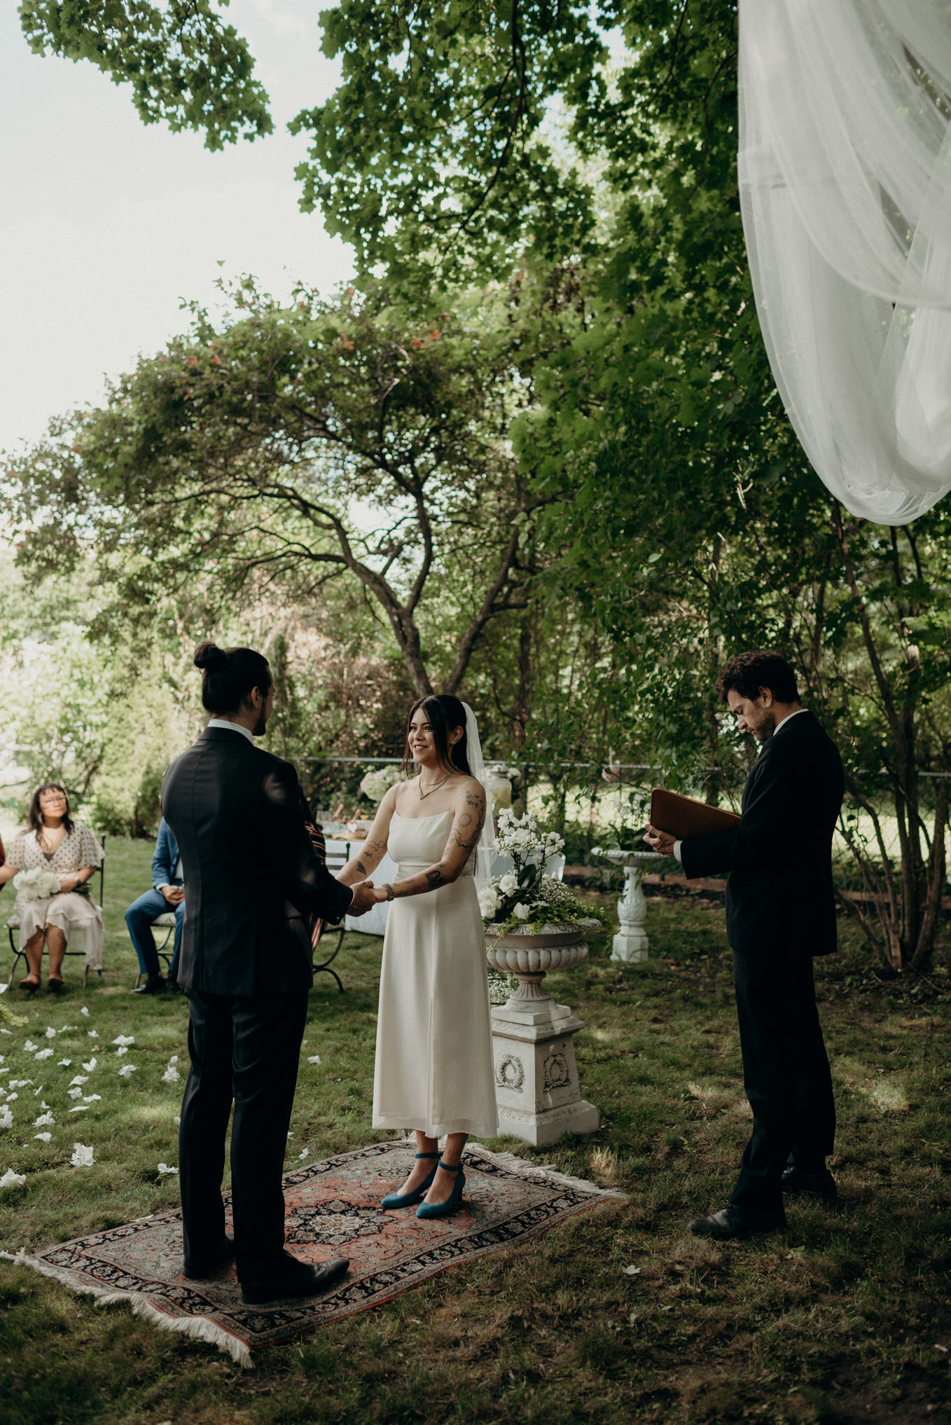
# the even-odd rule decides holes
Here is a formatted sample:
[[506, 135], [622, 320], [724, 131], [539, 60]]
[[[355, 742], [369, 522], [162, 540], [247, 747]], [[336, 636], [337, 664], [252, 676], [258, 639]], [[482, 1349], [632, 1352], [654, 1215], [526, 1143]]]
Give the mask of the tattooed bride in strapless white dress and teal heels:
[[460, 1206], [467, 1137], [498, 1133], [474, 881], [485, 792], [470, 771], [467, 714], [477, 740], [471, 710], [458, 698], [438, 694], [413, 704], [404, 765], [413, 758], [419, 777], [390, 788], [367, 839], [340, 872], [346, 885], [363, 881], [384, 851], [399, 865], [397, 878], [376, 889], [377, 901], [393, 905], [380, 972], [373, 1127], [416, 1130], [413, 1171], [383, 1206], [419, 1203], [417, 1217]]

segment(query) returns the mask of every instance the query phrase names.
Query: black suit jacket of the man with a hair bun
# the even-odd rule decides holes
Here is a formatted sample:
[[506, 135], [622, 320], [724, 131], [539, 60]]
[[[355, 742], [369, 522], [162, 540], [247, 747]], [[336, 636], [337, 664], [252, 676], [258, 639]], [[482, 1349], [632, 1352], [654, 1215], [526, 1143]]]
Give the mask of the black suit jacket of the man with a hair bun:
[[290, 762], [209, 727], [165, 772], [162, 812], [185, 874], [179, 985], [235, 996], [312, 985], [308, 916], [340, 921], [353, 892], [313, 852]]

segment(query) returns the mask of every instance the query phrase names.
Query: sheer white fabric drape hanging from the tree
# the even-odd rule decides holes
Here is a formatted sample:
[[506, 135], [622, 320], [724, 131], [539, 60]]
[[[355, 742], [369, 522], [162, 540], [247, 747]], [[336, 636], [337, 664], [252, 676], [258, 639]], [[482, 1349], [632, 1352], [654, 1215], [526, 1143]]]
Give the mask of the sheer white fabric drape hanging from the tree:
[[951, 489], [951, 0], [740, 0], [756, 309], [803, 447], [904, 524]]

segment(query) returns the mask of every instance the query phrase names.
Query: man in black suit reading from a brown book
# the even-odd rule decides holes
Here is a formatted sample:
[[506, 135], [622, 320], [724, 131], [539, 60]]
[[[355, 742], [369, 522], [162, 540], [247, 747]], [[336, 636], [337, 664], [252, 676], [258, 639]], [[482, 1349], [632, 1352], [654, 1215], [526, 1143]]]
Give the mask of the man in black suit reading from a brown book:
[[836, 744], [802, 707], [779, 654], [739, 654], [716, 691], [740, 732], [762, 744], [740, 821], [678, 842], [649, 826], [645, 841], [676, 855], [688, 879], [729, 872], [726, 932], [753, 1133], [727, 1206], [690, 1223], [727, 1238], [783, 1227], [783, 1193], [836, 1197], [826, 1166], [836, 1107], [813, 956], [836, 949], [831, 839], [844, 778]]

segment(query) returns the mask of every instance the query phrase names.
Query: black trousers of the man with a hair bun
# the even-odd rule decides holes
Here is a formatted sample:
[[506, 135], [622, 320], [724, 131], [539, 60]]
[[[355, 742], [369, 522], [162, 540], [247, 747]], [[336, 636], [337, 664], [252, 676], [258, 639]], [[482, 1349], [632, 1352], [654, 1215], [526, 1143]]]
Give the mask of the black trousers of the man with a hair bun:
[[[245, 999], [188, 990], [191, 1070], [178, 1133], [185, 1265], [224, 1240], [225, 1134], [231, 1127], [231, 1194], [238, 1280], [282, 1268], [282, 1173], [298, 1083], [308, 990]], [[194, 1251], [194, 1255], [192, 1255]]]

